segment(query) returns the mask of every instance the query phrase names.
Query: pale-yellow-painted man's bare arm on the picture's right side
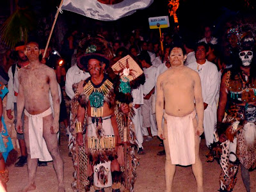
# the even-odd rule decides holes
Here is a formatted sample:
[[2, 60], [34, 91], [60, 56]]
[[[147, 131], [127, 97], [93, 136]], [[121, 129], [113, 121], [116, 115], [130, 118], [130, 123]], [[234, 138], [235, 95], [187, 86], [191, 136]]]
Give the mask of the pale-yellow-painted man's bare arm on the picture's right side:
[[204, 132], [204, 100], [202, 96], [202, 86], [199, 75], [195, 74], [194, 97], [196, 102], [196, 113], [198, 117], [198, 125], [196, 127], [196, 135], [200, 136]]

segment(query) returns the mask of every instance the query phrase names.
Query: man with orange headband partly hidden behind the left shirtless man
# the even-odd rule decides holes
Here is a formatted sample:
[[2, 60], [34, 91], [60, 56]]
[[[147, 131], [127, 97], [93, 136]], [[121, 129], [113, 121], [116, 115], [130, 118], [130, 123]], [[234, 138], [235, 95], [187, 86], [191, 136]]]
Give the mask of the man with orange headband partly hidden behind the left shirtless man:
[[[17, 95], [19, 93], [19, 81], [18, 81], [18, 71], [20, 68], [28, 65], [28, 58], [24, 54], [25, 43], [19, 42], [15, 45], [15, 51], [13, 52], [13, 57], [16, 63], [14, 63], [8, 70], [8, 90], [7, 103], [6, 103], [6, 114], [9, 119], [13, 119], [12, 111], [14, 112], [14, 124], [17, 130]], [[26, 144], [24, 140], [24, 134], [17, 132], [17, 140], [19, 141], [20, 153], [19, 161], [15, 163], [15, 166], [24, 166], [27, 163], [27, 152]]]

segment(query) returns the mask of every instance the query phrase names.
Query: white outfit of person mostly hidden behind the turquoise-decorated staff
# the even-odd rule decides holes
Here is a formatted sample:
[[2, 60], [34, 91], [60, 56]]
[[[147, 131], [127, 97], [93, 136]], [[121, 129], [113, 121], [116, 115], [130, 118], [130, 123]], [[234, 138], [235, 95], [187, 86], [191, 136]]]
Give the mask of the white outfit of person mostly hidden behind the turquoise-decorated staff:
[[[132, 102], [133, 106], [135, 104], [140, 104], [140, 105], [143, 104], [142, 85], [140, 85], [138, 88], [132, 90], [132, 98], [133, 98], [133, 102]], [[136, 143], [138, 144], [139, 148], [142, 147], [142, 143], [143, 143], [143, 135], [142, 135], [142, 131], [141, 131], [142, 127], [140, 124], [140, 118], [142, 118], [142, 116], [140, 116], [140, 108], [138, 108], [138, 109], [134, 108], [135, 114], [132, 117], [132, 122], [134, 124], [135, 131], [136, 131]]]

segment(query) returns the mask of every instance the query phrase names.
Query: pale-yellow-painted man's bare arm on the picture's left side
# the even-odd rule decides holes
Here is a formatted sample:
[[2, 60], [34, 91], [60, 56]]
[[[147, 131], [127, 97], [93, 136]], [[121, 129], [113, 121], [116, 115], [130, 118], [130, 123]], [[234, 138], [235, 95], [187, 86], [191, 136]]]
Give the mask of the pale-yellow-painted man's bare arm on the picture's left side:
[[162, 127], [162, 121], [163, 121], [163, 114], [164, 114], [164, 92], [163, 87], [161, 86], [161, 78], [162, 76], [159, 76], [157, 78], [157, 97], [156, 97], [156, 122], [157, 122], [157, 136], [164, 140], [164, 134], [163, 134], [163, 127]]

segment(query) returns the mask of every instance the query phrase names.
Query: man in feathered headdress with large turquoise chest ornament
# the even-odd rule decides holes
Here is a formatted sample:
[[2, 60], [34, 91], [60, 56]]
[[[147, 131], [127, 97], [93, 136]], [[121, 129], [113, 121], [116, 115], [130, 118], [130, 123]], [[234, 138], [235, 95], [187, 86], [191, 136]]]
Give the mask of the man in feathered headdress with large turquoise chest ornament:
[[116, 104], [114, 85], [105, 73], [112, 56], [108, 46], [99, 36], [88, 38], [85, 54], [77, 58], [77, 65], [90, 77], [74, 85], [76, 94], [72, 99], [71, 152], [76, 170], [72, 188], [76, 191], [88, 191], [93, 184], [95, 191], [111, 187], [118, 192], [123, 181], [123, 130], [116, 115], [120, 108], [129, 111]]

